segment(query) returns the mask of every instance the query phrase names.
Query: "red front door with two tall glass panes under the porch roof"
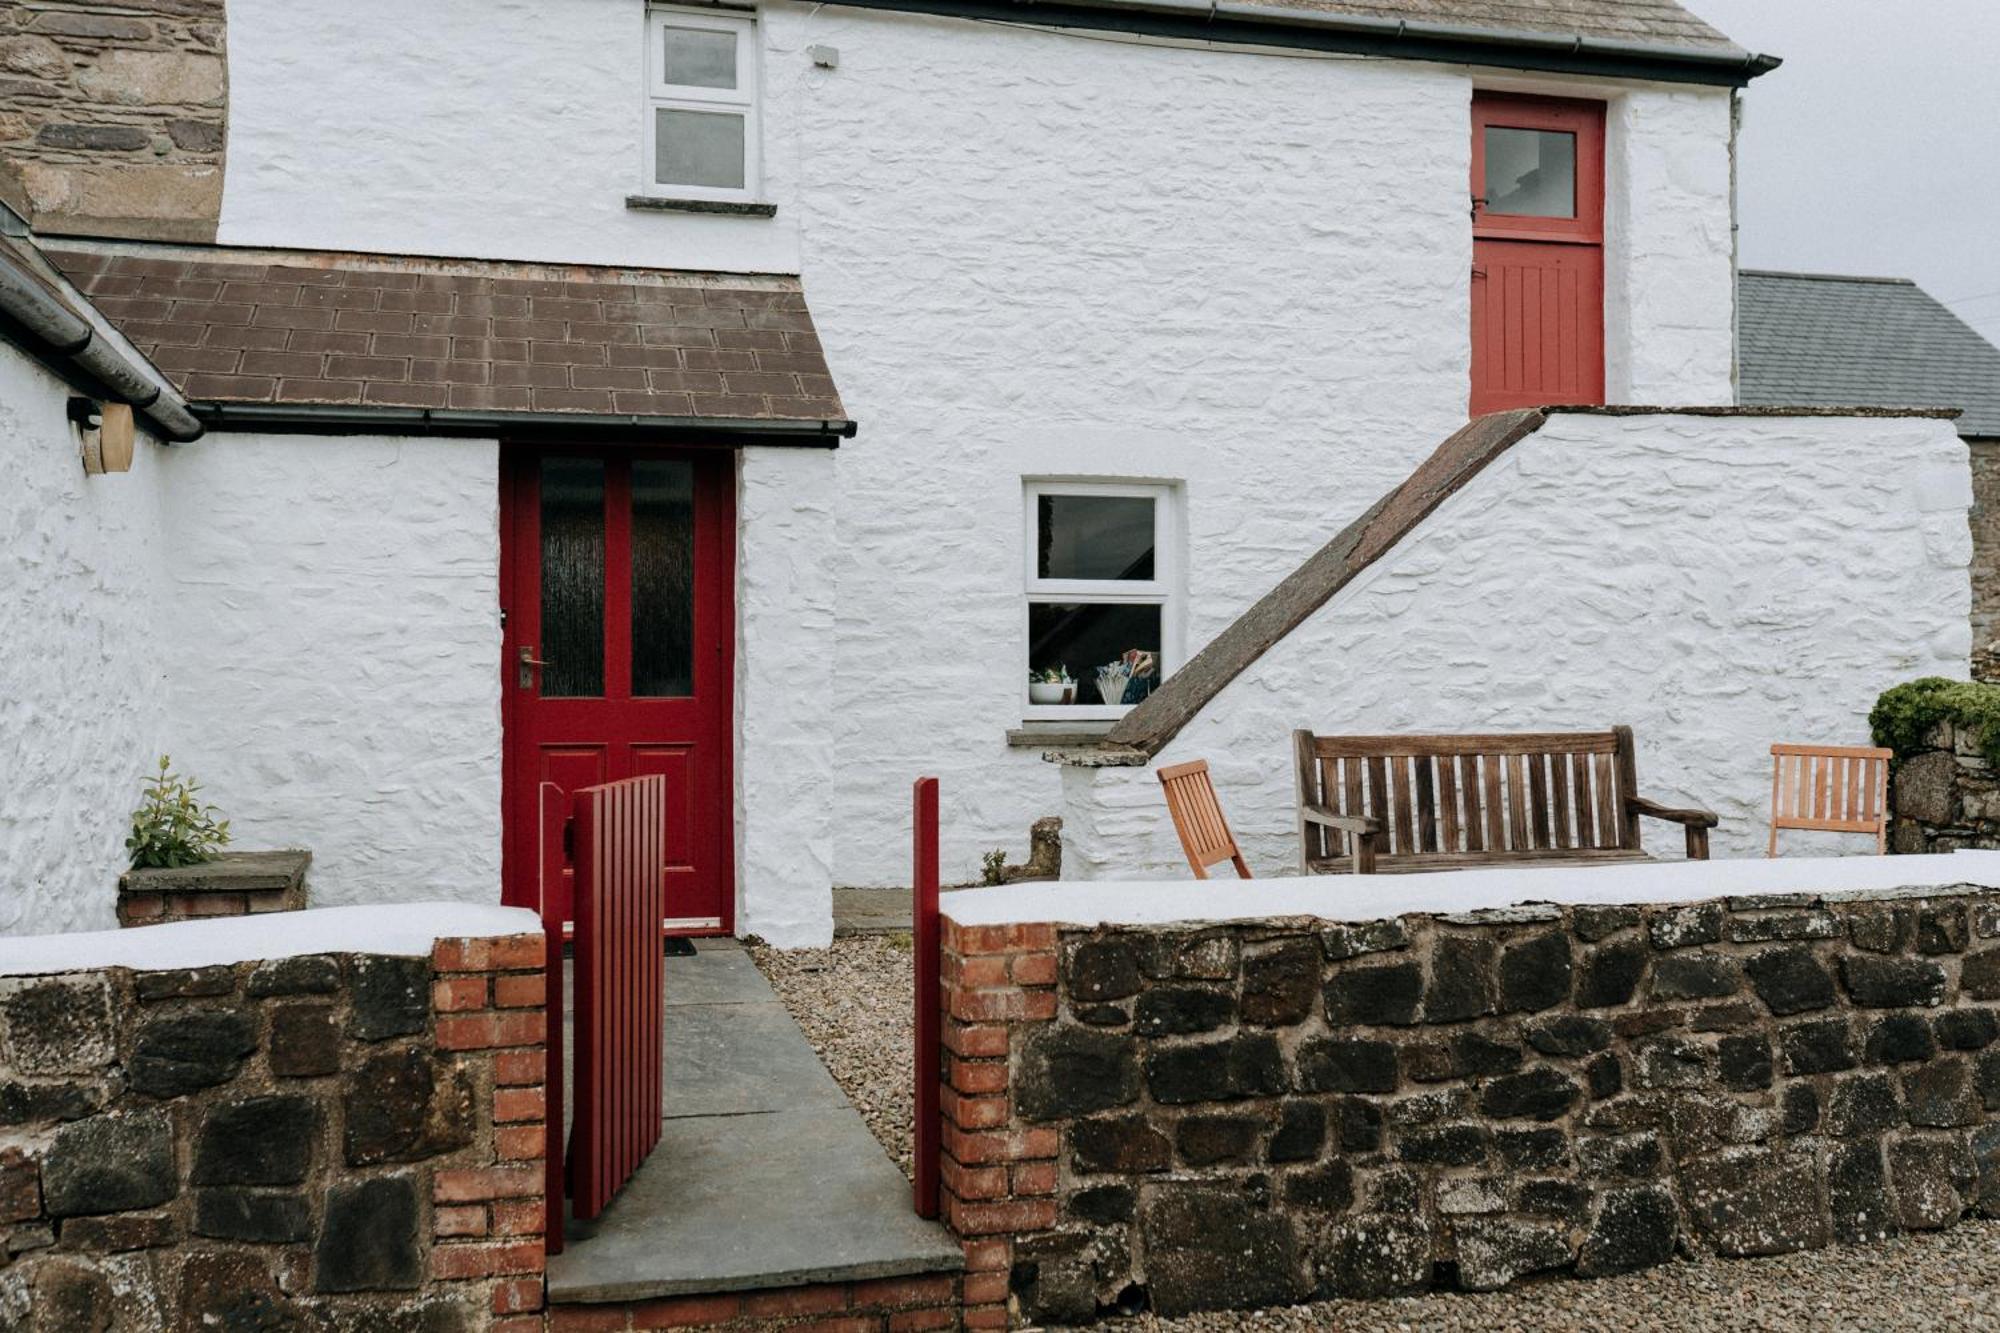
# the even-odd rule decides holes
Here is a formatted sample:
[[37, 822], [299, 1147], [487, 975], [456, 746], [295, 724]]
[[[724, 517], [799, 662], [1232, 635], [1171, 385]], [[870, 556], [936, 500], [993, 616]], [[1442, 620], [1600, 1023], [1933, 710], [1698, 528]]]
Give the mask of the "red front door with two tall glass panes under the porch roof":
[[540, 905], [550, 785], [566, 799], [658, 773], [664, 929], [734, 931], [732, 464], [728, 450], [502, 452], [504, 903]]

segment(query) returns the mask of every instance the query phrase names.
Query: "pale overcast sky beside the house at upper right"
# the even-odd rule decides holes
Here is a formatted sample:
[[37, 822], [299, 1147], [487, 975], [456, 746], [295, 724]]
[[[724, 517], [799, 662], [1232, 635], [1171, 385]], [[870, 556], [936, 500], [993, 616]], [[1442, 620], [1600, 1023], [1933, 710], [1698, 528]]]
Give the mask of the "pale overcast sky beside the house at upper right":
[[1744, 268], [1916, 278], [2000, 342], [2000, 0], [1682, 0], [1744, 92]]

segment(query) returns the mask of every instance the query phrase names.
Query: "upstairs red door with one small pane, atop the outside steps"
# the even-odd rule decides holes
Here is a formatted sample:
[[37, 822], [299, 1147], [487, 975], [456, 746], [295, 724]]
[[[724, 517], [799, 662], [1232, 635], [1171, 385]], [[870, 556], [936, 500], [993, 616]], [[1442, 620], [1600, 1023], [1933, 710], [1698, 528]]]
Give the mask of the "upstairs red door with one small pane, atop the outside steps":
[[1472, 416], [1604, 402], [1604, 104], [1472, 98]]

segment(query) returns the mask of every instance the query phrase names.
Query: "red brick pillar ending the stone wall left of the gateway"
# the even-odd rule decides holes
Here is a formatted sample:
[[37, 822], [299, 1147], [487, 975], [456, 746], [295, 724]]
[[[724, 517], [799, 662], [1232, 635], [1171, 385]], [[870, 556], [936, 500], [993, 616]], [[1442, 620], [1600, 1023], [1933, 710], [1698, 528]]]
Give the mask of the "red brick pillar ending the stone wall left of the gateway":
[[446, 939], [430, 953], [438, 1049], [472, 1067], [486, 1103], [470, 1159], [430, 1181], [430, 1277], [488, 1283], [494, 1333], [542, 1329], [544, 961], [540, 935]]

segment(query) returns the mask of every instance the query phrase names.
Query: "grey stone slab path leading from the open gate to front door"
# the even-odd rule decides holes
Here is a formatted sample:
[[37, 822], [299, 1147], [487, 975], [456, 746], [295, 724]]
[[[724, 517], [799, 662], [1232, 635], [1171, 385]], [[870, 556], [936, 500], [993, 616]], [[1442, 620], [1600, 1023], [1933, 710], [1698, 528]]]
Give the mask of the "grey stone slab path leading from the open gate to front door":
[[548, 1261], [554, 1303], [962, 1267], [734, 941], [666, 959], [660, 1147]]

